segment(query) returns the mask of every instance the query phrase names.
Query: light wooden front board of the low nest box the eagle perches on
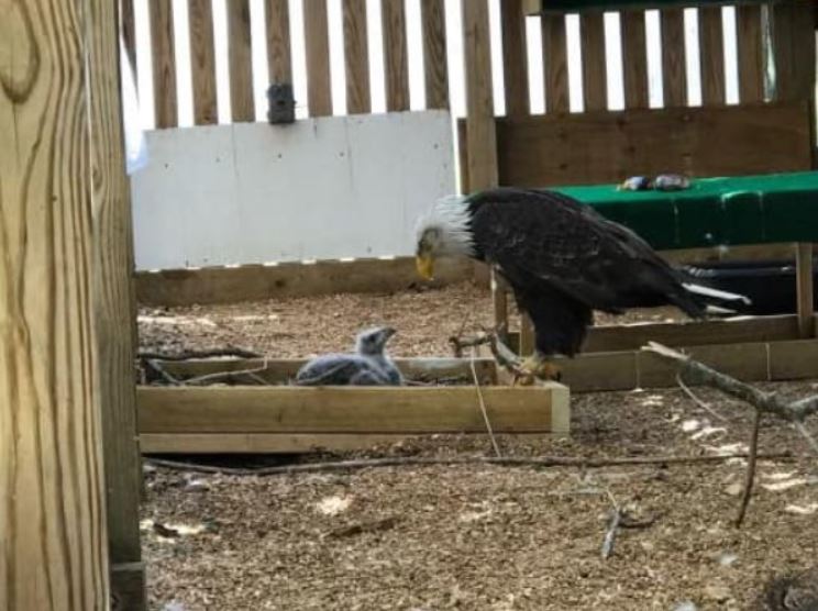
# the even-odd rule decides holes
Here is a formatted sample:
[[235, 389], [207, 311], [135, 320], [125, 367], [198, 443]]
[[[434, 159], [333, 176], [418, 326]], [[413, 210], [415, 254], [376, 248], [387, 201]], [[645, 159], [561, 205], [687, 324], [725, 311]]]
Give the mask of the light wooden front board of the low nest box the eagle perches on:
[[[484, 387], [497, 433], [565, 432], [568, 390]], [[474, 387], [143, 387], [140, 433], [479, 433]]]

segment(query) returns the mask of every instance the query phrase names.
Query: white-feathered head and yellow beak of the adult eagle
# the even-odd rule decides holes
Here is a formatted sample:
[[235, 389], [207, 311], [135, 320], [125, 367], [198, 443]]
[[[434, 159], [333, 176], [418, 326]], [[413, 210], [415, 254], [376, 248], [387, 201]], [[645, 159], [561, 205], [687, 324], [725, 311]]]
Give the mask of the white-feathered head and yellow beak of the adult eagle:
[[416, 224], [418, 273], [431, 280], [436, 257], [467, 257], [474, 254], [468, 199], [449, 196], [439, 199]]

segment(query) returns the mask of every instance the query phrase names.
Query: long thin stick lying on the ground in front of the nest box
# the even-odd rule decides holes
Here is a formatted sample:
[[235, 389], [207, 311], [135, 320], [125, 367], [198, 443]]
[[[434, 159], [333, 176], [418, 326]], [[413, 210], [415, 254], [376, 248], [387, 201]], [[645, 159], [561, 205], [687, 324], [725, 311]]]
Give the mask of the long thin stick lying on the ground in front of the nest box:
[[[714, 456], [629, 456], [624, 458], [574, 458], [564, 456], [452, 456], [452, 457], [422, 457], [422, 456], [395, 456], [389, 458], [362, 458], [357, 460], [340, 460], [332, 463], [303, 463], [298, 465], [283, 465], [277, 467], [259, 467], [257, 469], [245, 469], [235, 467], [215, 467], [210, 465], [196, 465], [179, 460], [167, 460], [164, 458], [146, 457], [145, 460], [157, 467], [170, 469], [213, 473], [224, 475], [286, 475], [299, 473], [340, 471], [354, 469], [371, 469], [378, 467], [418, 467], [418, 466], [442, 466], [442, 465], [497, 465], [505, 467], [579, 467], [601, 468], [621, 465], [696, 465], [708, 463], [722, 463], [733, 458], [747, 458], [747, 453], [721, 454]], [[789, 452], [760, 454], [760, 460], [795, 460], [805, 458]]]

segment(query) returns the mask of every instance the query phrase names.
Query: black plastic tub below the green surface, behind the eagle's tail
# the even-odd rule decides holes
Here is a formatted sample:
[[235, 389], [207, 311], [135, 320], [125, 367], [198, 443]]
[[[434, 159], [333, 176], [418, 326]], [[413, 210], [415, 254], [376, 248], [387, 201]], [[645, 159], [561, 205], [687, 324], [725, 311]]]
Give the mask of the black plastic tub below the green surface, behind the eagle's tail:
[[[813, 300], [818, 299], [818, 260], [814, 262]], [[700, 285], [743, 295], [752, 300], [742, 314], [796, 312], [795, 260], [752, 260], [684, 267]]]

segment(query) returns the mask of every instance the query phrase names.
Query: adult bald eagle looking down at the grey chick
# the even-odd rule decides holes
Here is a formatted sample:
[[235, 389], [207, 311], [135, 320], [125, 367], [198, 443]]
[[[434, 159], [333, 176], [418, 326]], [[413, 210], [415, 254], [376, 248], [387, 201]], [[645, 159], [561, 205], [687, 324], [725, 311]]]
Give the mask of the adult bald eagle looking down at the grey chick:
[[418, 273], [431, 279], [438, 257], [493, 266], [534, 326], [523, 369], [559, 378], [554, 355], [581, 351], [594, 310], [675, 306], [692, 318], [749, 300], [701, 287], [671, 267], [629, 229], [565, 195], [498, 188], [439, 200], [417, 224]]

